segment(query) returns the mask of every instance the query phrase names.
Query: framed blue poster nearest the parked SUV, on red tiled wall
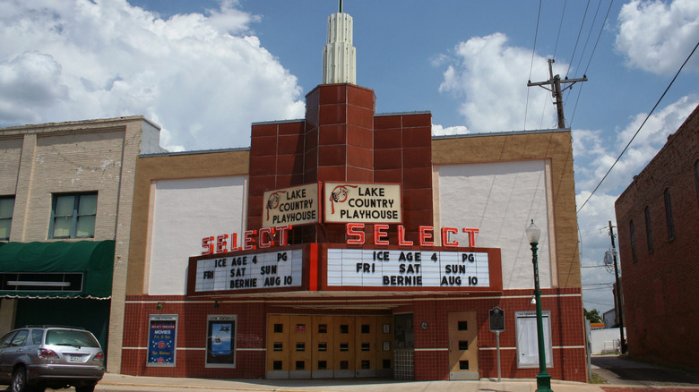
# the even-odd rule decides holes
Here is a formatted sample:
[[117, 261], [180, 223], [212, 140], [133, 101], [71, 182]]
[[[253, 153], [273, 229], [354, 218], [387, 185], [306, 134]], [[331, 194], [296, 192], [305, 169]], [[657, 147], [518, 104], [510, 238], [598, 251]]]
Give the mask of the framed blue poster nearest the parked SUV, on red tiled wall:
[[151, 314], [148, 322], [146, 366], [175, 366], [177, 314]]

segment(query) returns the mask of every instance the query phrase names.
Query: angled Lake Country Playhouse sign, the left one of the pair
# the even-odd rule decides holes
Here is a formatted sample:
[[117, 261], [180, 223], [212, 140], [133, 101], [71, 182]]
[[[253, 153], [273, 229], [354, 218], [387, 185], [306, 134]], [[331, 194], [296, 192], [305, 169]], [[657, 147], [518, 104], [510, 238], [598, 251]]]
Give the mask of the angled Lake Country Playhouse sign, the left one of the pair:
[[263, 227], [319, 221], [318, 183], [264, 192], [263, 203]]

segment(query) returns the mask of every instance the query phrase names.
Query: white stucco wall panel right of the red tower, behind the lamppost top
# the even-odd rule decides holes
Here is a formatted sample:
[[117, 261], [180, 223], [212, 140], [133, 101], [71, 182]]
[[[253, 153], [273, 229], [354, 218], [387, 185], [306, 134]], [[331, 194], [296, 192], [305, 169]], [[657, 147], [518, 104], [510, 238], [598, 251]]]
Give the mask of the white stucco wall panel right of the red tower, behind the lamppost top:
[[[503, 288], [532, 288], [531, 247], [524, 230], [531, 219], [541, 229], [539, 284], [551, 287], [548, 170], [544, 160], [436, 167], [439, 222], [435, 226], [478, 228], [476, 246], [500, 248]], [[465, 234], [457, 239], [468, 243]]]

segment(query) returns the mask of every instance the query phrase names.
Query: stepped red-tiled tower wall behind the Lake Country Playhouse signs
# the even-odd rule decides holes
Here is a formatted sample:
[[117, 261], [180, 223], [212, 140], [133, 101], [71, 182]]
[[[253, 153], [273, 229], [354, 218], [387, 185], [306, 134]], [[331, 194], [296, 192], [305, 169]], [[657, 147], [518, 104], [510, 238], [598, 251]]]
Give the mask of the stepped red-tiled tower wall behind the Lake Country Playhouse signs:
[[[320, 85], [306, 96], [305, 121], [253, 124], [247, 228], [262, 225], [263, 192], [314, 183], [401, 183], [406, 239], [431, 226], [432, 116], [375, 116], [374, 91]], [[367, 243], [373, 242], [367, 225]], [[389, 234], [395, 236], [397, 226]], [[344, 225], [297, 227], [292, 243], [344, 243]]]

